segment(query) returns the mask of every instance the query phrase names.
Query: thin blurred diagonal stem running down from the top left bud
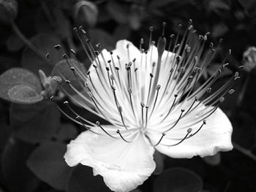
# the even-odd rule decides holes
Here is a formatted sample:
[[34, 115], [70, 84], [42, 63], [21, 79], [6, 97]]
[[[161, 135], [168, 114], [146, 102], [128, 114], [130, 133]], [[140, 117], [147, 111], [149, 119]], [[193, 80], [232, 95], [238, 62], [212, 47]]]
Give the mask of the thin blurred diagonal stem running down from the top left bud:
[[37, 47], [35, 47], [30, 41], [29, 39], [27, 39], [23, 33], [20, 31], [20, 29], [18, 28], [18, 26], [16, 26], [16, 24], [14, 22], [12, 22], [12, 29], [15, 32], [15, 34], [18, 35], [18, 37], [20, 37], [20, 39], [32, 50], [34, 51], [34, 53], [37, 54], [37, 56], [39, 56], [39, 58], [42, 58], [43, 61], [45, 61], [47, 64], [50, 64], [50, 61], [47, 60], [47, 58], [45, 58], [45, 55], [43, 55], [38, 49]]

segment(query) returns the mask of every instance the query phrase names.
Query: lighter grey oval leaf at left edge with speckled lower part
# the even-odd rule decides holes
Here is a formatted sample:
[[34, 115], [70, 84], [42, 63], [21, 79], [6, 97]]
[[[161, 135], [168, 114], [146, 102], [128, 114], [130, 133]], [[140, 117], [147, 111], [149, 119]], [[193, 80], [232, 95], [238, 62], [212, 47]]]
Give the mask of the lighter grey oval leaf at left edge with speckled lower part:
[[42, 101], [42, 91], [36, 75], [22, 68], [9, 69], [0, 76], [0, 97], [18, 104]]

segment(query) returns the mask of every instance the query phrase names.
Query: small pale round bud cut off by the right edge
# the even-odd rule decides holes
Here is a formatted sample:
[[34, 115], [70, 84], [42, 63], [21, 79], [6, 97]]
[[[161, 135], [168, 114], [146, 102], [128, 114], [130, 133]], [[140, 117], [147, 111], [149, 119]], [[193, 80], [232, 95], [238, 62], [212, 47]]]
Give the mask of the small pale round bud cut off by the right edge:
[[246, 72], [251, 72], [256, 67], [256, 47], [248, 47], [243, 54], [243, 66]]

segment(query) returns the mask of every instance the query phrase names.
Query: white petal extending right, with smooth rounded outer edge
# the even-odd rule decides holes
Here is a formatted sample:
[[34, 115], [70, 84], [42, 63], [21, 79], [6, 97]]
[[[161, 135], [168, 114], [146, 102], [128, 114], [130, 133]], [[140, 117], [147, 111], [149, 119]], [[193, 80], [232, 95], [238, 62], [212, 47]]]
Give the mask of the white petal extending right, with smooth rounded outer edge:
[[[200, 127], [200, 123], [197, 124], [197, 127]], [[185, 139], [179, 145], [173, 147], [158, 145], [156, 149], [172, 158], [214, 155], [218, 151], [232, 150], [232, 130], [230, 120], [222, 110], [217, 109], [213, 115], [207, 118], [206, 125], [195, 136]]]

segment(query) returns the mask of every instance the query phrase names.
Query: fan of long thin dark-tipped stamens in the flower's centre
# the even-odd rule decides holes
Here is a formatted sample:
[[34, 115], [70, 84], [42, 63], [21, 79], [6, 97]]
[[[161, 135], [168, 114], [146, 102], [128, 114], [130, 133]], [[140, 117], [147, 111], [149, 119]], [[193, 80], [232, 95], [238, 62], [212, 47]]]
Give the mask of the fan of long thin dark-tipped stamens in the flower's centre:
[[[150, 27], [148, 51], [143, 50], [144, 41], [141, 39], [140, 55], [135, 58], [130, 53], [129, 43], [125, 47], [124, 55], [118, 55], [118, 50], [103, 53], [99, 50], [100, 45], [91, 45], [83, 28], [74, 28], [92, 66], [84, 73], [74, 59], [75, 51], [71, 50], [72, 56], [69, 57], [60, 45], [56, 45], [56, 50], [63, 54], [82, 88], [78, 90], [60, 73], [59, 76], [68, 85], [65, 88], [62, 86], [62, 91], [81, 107], [108, 120], [116, 129], [102, 126], [99, 121], [92, 123], [82, 118], [68, 101], [64, 101], [67, 106], [65, 110], [57, 105], [59, 110], [94, 134], [103, 133], [113, 139], [123, 139], [124, 142], [132, 142], [138, 134], [143, 134], [153, 146], [175, 146], [195, 136], [219, 104], [234, 92], [232, 86], [239, 78], [238, 72], [212, 93], [214, 82], [228, 65], [225, 58], [216, 72], [198, 87], [206, 67], [216, 55], [217, 48], [210, 43], [205, 51], [208, 33], [198, 37], [192, 27], [192, 20], [189, 20], [189, 26], [182, 38], [179, 33], [176, 36], [170, 35], [168, 46], [165, 23], [162, 27], [157, 48], [154, 47], [156, 42], [152, 41], [153, 27]], [[157, 49], [157, 58], [154, 49]], [[53, 78], [61, 87], [59, 78]], [[55, 101], [53, 96], [50, 99]], [[68, 115], [66, 110], [72, 112], [72, 115]], [[186, 120], [188, 117], [191, 118]], [[199, 127], [192, 129], [199, 124]], [[97, 131], [94, 127], [102, 131]], [[176, 136], [176, 129], [179, 133], [184, 130], [184, 135]], [[165, 142], [165, 139], [171, 139], [173, 144]]]

